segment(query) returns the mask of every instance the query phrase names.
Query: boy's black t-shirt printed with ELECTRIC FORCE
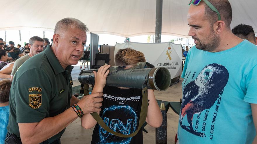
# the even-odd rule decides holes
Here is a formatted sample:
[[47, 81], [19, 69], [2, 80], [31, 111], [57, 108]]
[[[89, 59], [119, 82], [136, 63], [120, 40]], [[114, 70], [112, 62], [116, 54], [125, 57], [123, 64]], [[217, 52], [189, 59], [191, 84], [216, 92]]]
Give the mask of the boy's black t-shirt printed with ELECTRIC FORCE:
[[[100, 117], [113, 131], [121, 134], [131, 134], [138, 129], [140, 109], [142, 105], [141, 89], [120, 89], [112, 86], [103, 88], [103, 105]], [[142, 144], [142, 128], [136, 136], [122, 138], [105, 131], [97, 123], [95, 125], [91, 144]]]

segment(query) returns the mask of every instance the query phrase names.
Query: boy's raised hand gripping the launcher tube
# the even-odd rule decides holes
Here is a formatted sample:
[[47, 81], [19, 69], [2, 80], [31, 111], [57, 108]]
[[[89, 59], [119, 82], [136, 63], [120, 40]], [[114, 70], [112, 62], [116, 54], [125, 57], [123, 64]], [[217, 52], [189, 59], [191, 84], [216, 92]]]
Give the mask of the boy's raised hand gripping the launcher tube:
[[[98, 69], [98, 72], [93, 71], [94, 75], [95, 75], [95, 88], [100, 88], [103, 90], [103, 87], [106, 84], [106, 78], [110, 72], [109, 67], [111, 65], [103, 65]], [[98, 92], [98, 91], [97, 91]]]

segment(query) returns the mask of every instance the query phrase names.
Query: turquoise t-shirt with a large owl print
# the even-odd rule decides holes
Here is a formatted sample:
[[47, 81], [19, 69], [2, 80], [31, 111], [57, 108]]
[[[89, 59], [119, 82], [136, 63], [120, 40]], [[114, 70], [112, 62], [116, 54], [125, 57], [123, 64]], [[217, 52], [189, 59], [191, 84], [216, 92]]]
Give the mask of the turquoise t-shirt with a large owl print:
[[231, 49], [193, 47], [182, 78], [180, 144], [251, 144], [251, 104], [257, 104], [257, 47], [247, 40]]

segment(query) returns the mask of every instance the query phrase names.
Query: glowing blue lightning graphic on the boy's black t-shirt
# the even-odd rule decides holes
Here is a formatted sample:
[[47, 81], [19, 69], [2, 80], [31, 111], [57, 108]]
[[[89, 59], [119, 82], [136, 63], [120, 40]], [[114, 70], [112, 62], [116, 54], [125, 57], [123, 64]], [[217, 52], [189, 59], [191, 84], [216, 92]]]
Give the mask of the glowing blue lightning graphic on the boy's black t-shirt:
[[[133, 121], [133, 119], [127, 119], [127, 124], [124, 124], [118, 118], [112, 119], [110, 121], [109, 118], [106, 118], [106, 117], [103, 118], [103, 121], [113, 131], [117, 131], [121, 134], [131, 134], [131, 131], [134, 132], [136, 130], [138, 117], [136, 115], [136, 112], [130, 106], [111, 106], [110, 108], [105, 108], [103, 110], [103, 115], [107, 111], [114, 111], [117, 109], [119, 109], [127, 114], [132, 115], [134, 117], [133, 118], [134, 121]], [[102, 117], [103, 117], [103, 115], [102, 115]], [[133, 127], [131, 127], [132, 123], [133, 123]], [[131, 128], [133, 130], [131, 130]], [[103, 144], [129, 144], [129, 142], [131, 141], [131, 138], [122, 138], [122, 141], [115, 141], [114, 139], [110, 138], [111, 136], [113, 138], [114, 135], [105, 131], [101, 126], [99, 126], [99, 136], [100, 136], [101, 143], [103, 143]], [[117, 136], [115, 136], [115, 137], [117, 137]], [[108, 141], [111, 141], [111, 142], [108, 142]]]

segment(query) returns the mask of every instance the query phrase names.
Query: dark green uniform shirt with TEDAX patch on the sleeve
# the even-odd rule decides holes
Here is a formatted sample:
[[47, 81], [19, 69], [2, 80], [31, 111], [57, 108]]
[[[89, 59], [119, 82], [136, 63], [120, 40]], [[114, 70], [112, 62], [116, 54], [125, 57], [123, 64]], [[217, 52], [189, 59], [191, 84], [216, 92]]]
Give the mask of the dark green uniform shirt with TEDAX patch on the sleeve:
[[[20, 137], [18, 123], [40, 122], [68, 109], [72, 97], [72, 69], [72, 66], [62, 68], [51, 45], [25, 61], [11, 86], [8, 131]], [[64, 131], [47, 141], [59, 138]]]

